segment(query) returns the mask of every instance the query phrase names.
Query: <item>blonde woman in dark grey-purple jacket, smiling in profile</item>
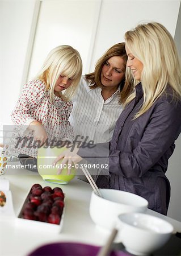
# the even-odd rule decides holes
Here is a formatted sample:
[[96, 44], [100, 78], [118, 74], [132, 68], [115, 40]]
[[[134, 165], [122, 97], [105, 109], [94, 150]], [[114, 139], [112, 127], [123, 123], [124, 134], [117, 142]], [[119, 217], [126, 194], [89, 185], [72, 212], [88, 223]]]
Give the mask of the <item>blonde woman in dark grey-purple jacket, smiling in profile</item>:
[[[99, 176], [97, 184], [140, 195], [150, 209], [167, 214], [165, 173], [181, 131], [180, 61], [172, 36], [159, 23], [139, 24], [125, 33], [125, 43], [136, 86], [116, 123], [108, 179]], [[74, 162], [90, 155], [100, 155], [99, 145], [75, 151]], [[68, 161], [68, 153], [64, 158]]]

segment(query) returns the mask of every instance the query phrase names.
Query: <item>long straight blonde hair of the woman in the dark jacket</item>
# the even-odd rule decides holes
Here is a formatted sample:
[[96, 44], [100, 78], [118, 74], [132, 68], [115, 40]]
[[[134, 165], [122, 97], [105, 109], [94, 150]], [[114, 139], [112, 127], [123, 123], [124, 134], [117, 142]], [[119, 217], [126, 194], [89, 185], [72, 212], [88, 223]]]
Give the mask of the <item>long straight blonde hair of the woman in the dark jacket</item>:
[[[167, 29], [157, 22], [138, 24], [125, 33], [126, 46], [133, 56], [141, 61], [143, 70], [141, 83], [144, 103], [136, 114], [139, 117], [160, 97], [167, 85], [173, 90], [173, 97], [181, 97], [181, 66], [174, 39]], [[127, 98], [128, 104], [135, 97], [135, 91]]]

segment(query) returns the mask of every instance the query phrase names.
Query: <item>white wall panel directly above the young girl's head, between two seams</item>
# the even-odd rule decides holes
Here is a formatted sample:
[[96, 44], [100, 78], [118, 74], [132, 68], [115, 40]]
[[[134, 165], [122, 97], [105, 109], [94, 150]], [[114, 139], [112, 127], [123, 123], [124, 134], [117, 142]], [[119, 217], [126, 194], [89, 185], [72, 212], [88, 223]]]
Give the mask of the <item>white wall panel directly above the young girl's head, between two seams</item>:
[[89, 52], [98, 22], [99, 3], [98, 0], [41, 2], [28, 77], [35, 76], [48, 52], [61, 44], [70, 44], [81, 53], [85, 73], [90, 64]]

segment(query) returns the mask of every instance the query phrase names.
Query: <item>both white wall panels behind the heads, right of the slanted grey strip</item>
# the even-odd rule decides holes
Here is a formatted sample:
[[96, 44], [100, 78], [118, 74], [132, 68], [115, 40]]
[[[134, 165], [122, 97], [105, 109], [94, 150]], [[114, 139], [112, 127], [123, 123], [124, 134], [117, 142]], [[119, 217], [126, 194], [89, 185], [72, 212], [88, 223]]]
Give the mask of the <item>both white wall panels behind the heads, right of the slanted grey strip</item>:
[[94, 70], [102, 53], [124, 41], [125, 31], [138, 22], [161, 22], [174, 36], [179, 5], [180, 0], [42, 1], [28, 77], [36, 74], [47, 53], [58, 44], [77, 48], [83, 73], [87, 73]]

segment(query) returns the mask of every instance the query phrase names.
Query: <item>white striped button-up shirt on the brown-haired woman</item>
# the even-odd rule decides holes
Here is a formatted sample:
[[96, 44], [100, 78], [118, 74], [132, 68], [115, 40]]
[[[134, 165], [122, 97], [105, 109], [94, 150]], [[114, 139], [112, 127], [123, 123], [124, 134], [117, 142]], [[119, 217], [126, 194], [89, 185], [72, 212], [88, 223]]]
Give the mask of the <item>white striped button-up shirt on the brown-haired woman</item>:
[[74, 136], [81, 141], [89, 137], [94, 143], [111, 141], [116, 121], [119, 118], [123, 107], [118, 103], [120, 90], [117, 89], [110, 98], [104, 101], [101, 95], [101, 88], [89, 88], [90, 83], [82, 76], [78, 90], [73, 97], [73, 110], [69, 121], [73, 126]]

